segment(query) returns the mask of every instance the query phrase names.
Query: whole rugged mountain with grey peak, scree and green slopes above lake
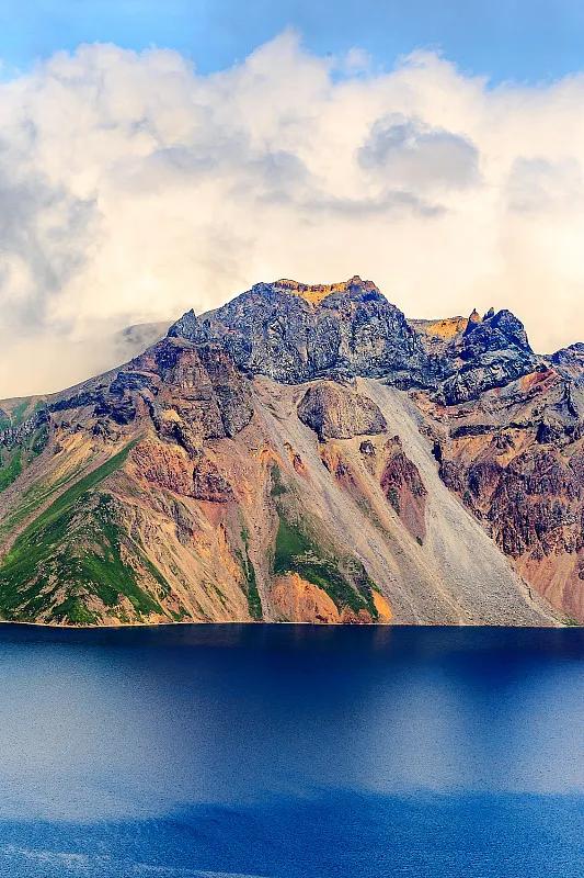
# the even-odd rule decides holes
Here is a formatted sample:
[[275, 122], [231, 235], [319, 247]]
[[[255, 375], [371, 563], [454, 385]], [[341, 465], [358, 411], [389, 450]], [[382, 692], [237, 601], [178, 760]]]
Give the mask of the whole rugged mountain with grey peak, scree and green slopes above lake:
[[65, 624], [584, 620], [584, 346], [260, 283], [0, 403], [0, 615]]

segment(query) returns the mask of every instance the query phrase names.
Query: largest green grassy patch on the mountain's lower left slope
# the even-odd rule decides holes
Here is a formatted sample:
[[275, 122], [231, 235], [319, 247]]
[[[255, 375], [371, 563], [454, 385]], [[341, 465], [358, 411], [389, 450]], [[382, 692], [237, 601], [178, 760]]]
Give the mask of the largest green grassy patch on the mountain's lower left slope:
[[[90, 624], [101, 620], [102, 605], [116, 607], [122, 597], [138, 618], [163, 612], [124, 562], [123, 547], [161, 590], [168, 590], [165, 579], [121, 530], [114, 498], [93, 491], [124, 463], [133, 444], [65, 491], [15, 540], [0, 563], [4, 617]], [[123, 611], [115, 616], [124, 620]]]

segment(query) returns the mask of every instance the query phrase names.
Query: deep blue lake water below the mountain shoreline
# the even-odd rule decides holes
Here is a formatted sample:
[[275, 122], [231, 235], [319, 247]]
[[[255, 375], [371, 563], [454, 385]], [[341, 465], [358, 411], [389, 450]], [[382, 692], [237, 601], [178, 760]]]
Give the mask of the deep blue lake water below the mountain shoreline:
[[572, 878], [584, 630], [0, 626], [0, 876]]

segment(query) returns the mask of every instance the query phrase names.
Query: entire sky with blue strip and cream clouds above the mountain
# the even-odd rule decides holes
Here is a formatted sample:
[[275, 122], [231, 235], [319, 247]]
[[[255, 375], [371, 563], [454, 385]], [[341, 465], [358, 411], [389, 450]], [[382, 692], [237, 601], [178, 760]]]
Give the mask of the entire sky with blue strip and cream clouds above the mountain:
[[0, 0], [0, 397], [260, 280], [584, 338], [584, 4]]

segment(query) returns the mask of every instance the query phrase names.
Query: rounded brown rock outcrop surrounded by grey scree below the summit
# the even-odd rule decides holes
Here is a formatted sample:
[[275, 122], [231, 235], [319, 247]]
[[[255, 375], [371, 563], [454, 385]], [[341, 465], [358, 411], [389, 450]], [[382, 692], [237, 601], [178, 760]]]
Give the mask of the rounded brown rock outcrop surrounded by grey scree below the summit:
[[322, 441], [385, 432], [386, 419], [367, 396], [332, 381], [310, 386], [298, 404], [298, 417]]

